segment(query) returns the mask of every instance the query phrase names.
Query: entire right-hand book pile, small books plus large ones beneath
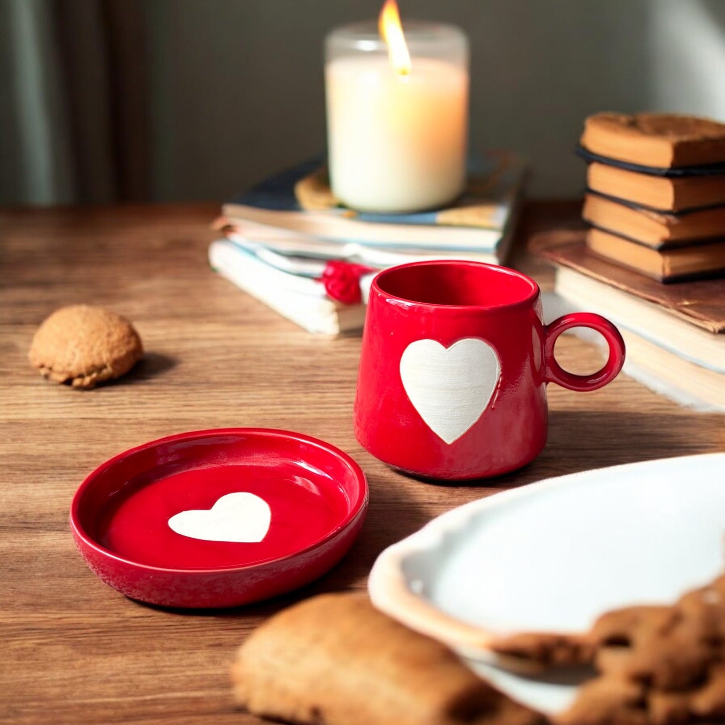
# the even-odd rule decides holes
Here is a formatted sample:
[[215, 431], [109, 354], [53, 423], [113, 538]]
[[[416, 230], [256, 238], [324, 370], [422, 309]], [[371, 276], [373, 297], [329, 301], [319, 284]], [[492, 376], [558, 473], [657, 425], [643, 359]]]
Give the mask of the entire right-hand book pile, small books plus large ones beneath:
[[579, 154], [586, 224], [531, 240], [556, 267], [555, 292], [616, 324], [633, 377], [725, 409], [725, 125], [598, 114]]

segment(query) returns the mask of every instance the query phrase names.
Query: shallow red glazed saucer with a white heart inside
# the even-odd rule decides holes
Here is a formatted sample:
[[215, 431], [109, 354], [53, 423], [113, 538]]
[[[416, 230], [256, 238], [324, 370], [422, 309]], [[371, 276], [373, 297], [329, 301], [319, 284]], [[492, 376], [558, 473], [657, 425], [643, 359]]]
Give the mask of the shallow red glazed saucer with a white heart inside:
[[299, 433], [180, 433], [105, 462], [70, 507], [88, 567], [131, 599], [234, 607], [322, 576], [363, 525], [368, 484], [338, 448]]

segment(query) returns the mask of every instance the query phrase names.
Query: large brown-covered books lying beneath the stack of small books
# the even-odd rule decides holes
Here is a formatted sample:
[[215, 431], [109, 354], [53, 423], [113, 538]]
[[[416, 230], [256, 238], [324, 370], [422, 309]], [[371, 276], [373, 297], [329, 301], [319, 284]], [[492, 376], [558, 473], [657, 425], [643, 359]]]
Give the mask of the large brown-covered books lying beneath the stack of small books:
[[725, 279], [660, 284], [592, 254], [581, 235], [535, 243], [557, 268], [557, 295], [616, 324], [625, 372], [679, 401], [725, 410]]

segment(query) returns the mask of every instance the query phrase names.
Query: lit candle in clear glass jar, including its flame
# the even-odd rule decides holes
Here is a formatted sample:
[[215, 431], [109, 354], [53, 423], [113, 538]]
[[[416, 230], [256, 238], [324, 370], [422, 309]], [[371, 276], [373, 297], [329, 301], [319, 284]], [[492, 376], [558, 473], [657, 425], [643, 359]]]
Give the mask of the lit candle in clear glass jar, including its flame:
[[394, 0], [379, 25], [379, 34], [349, 25], [327, 38], [332, 190], [361, 211], [437, 208], [465, 185], [468, 42], [424, 22], [406, 23], [404, 36]]

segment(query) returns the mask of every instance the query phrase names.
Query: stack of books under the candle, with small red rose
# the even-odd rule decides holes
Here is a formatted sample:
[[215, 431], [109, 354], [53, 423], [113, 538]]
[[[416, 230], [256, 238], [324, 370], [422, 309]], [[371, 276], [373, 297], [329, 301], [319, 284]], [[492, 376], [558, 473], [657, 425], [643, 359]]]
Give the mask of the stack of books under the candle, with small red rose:
[[320, 158], [279, 173], [223, 205], [212, 269], [310, 332], [360, 329], [370, 280], [422, 259], [505, 261], [526, 164], [488, 152], [450, 208], [358, 213], [332, 194]]

